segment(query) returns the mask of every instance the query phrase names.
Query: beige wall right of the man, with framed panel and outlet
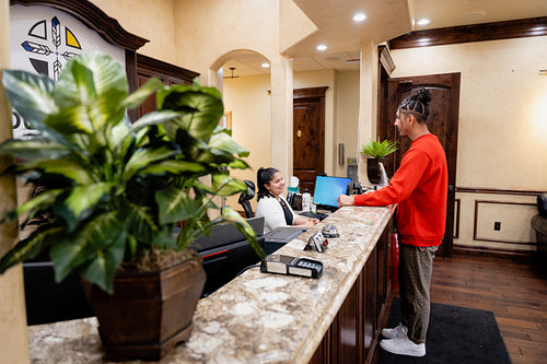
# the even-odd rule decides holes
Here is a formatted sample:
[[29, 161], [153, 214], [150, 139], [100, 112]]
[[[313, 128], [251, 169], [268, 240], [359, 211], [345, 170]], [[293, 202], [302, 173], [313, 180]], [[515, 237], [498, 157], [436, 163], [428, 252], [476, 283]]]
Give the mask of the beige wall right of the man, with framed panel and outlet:
[[[395, 78], [462, 73], [456, 187], [547, 190], [547, 77], [538, 74], [546, 68], [547, 37], [397, 49], [391, 55]], [[534, 248], [526, 243], [535, 240], [529, 227], [535, 197], [459, 192], [456, 199], [461, 225], [455, 244]], [[475, 204], [484, 200], [497, 203], [479, 202], [476, 215]], [[502, 222], [500, 232], [493, 231], [496, 221]]]

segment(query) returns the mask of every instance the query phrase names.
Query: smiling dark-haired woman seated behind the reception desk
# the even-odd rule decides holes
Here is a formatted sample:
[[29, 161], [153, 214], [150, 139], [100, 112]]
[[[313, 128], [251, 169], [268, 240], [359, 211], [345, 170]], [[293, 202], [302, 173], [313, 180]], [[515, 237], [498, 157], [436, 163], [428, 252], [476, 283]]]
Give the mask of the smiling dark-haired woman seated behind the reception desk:
[[256, 174], [257, 199], [256, 216], [264, 216], [264, 234], [280, 227], [312, 227], [318, 220], [300, 216], [292, 211], [289, 202], [281, 195], [284, 180], [281, 173], [272, 167], [260, 168]]

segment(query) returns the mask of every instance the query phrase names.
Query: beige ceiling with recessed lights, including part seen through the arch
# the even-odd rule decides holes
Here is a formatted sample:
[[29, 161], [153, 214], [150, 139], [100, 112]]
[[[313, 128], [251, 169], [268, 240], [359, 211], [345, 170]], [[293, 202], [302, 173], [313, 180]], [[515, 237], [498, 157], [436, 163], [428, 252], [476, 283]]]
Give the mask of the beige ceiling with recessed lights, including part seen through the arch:
[[[411, 31], [547, 16], [547, 0], [293, 0], [318, 27], [287, 50], [294, 71], [358, 70], [361, 44], [380, 44]], [[357, 12], [366, 20], [352, 21]], [[427, 17], [428, 25], [415, 25]], [[328, 49], [316, 50], [318, 44]], [[252, 51], [235, 52], [224, 77], [269, 73], [268, 62]], [[230, 70], [233, 67], [234, 70]]]

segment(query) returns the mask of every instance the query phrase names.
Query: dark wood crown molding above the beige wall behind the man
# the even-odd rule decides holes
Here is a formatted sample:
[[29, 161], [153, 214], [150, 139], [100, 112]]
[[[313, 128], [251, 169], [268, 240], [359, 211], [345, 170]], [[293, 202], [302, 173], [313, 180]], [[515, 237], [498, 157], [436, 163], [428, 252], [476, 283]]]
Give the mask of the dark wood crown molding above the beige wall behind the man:
[[403, 49], [544, 35], [547, 35], [547, 16], [416, 31], [388, 44], [389, 49]]

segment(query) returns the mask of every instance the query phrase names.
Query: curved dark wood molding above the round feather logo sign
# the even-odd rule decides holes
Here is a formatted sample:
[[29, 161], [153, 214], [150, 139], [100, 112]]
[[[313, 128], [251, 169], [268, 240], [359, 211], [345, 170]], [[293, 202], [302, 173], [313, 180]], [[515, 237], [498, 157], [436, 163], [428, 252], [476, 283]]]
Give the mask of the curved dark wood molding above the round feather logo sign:
[[88, 0], [11, 0], [10, 4], [54, 7], [75, 16], [106, 42], [128, 50], [135, 51], [149, 42], [125, 31], [115, 19]]

